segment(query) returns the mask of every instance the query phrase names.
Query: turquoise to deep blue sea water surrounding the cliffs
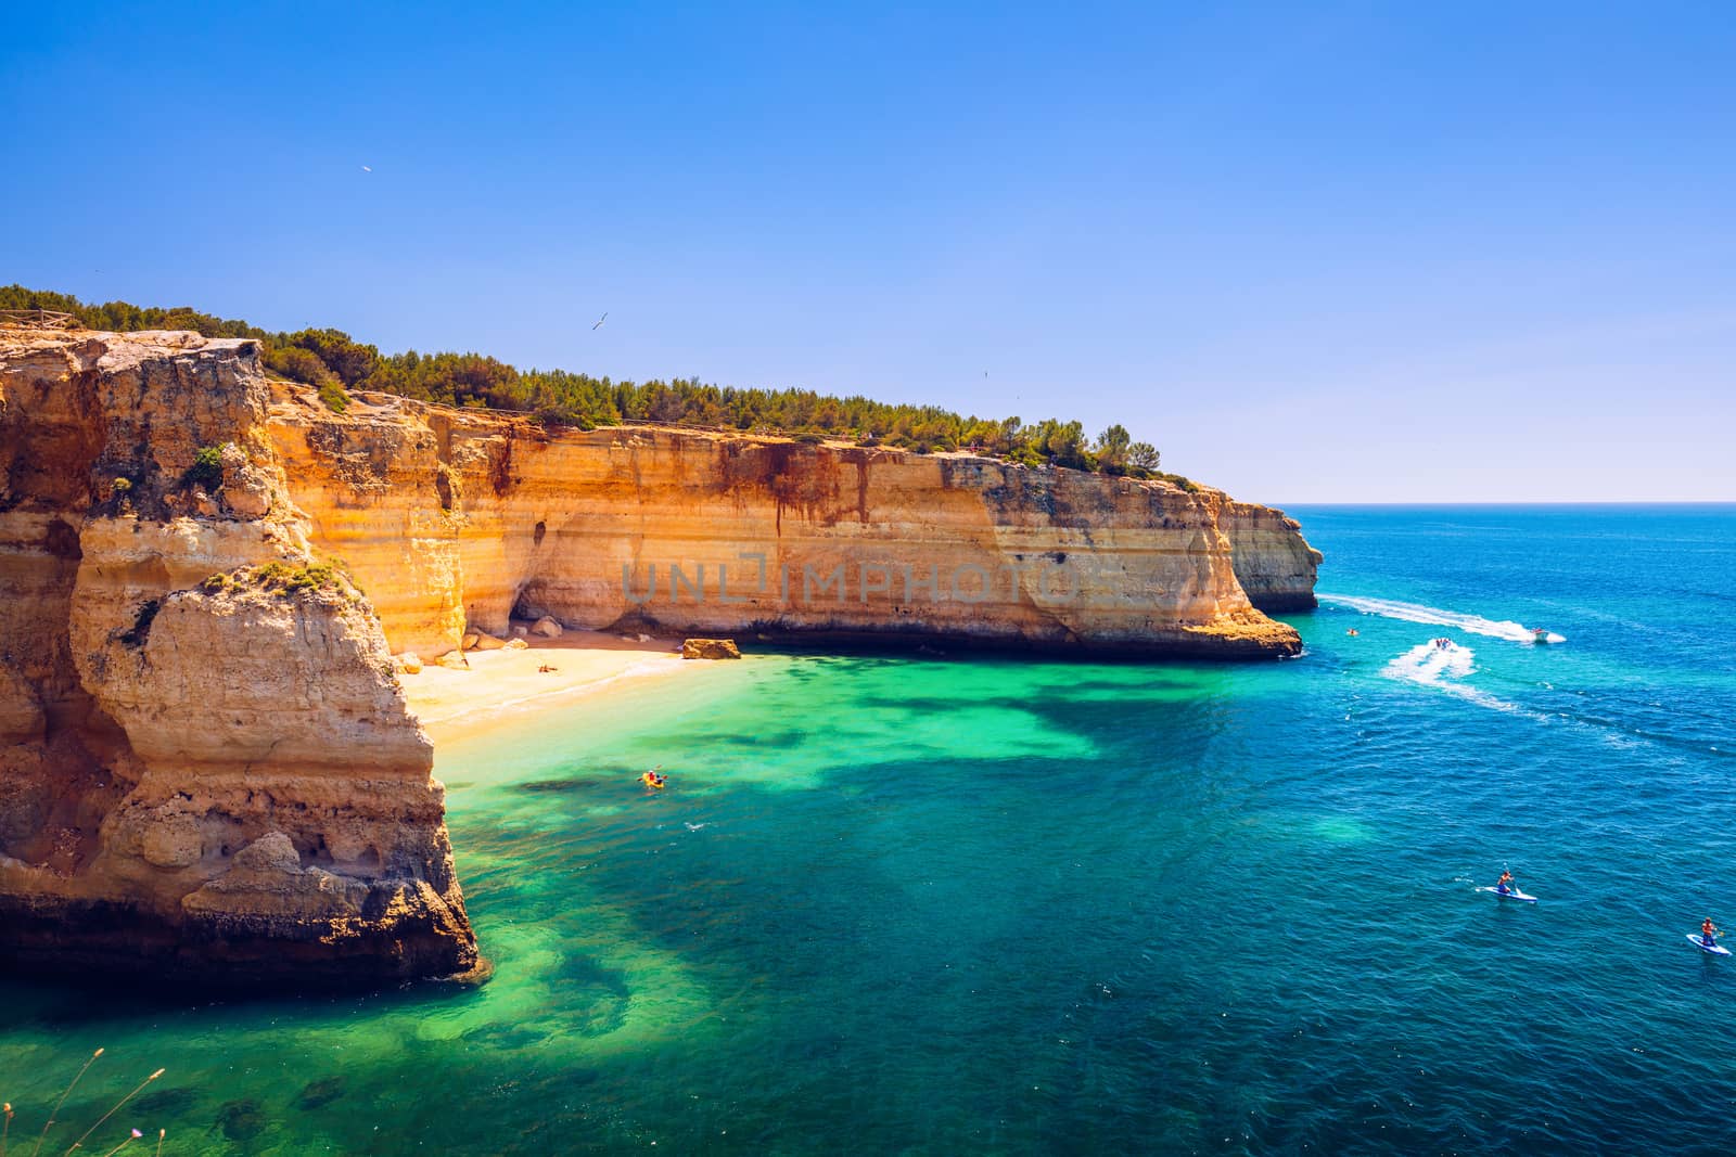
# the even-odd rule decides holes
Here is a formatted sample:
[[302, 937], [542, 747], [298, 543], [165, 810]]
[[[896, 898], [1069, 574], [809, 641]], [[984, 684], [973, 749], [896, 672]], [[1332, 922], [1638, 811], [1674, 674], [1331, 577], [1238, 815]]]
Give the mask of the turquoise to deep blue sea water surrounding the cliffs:
[[493, 984], [0, 985], [14, 1136], [101, 1044], [62, 1119], [167, 1065], [165, 1154], [1736, 1148], [1736, 508], [1293, 513], [1295, 661], [755, 656], [443, 749]]

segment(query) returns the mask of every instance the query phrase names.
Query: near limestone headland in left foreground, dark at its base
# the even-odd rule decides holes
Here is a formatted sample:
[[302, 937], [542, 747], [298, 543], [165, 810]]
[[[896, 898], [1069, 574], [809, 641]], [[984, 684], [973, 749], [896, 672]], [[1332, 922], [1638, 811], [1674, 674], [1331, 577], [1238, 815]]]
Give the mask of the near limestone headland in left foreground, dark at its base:
[[306, 569], [269, 394], [250, 342], [0, 330], [0, 958], [483, 968], [432, 748], [366, 600]]

